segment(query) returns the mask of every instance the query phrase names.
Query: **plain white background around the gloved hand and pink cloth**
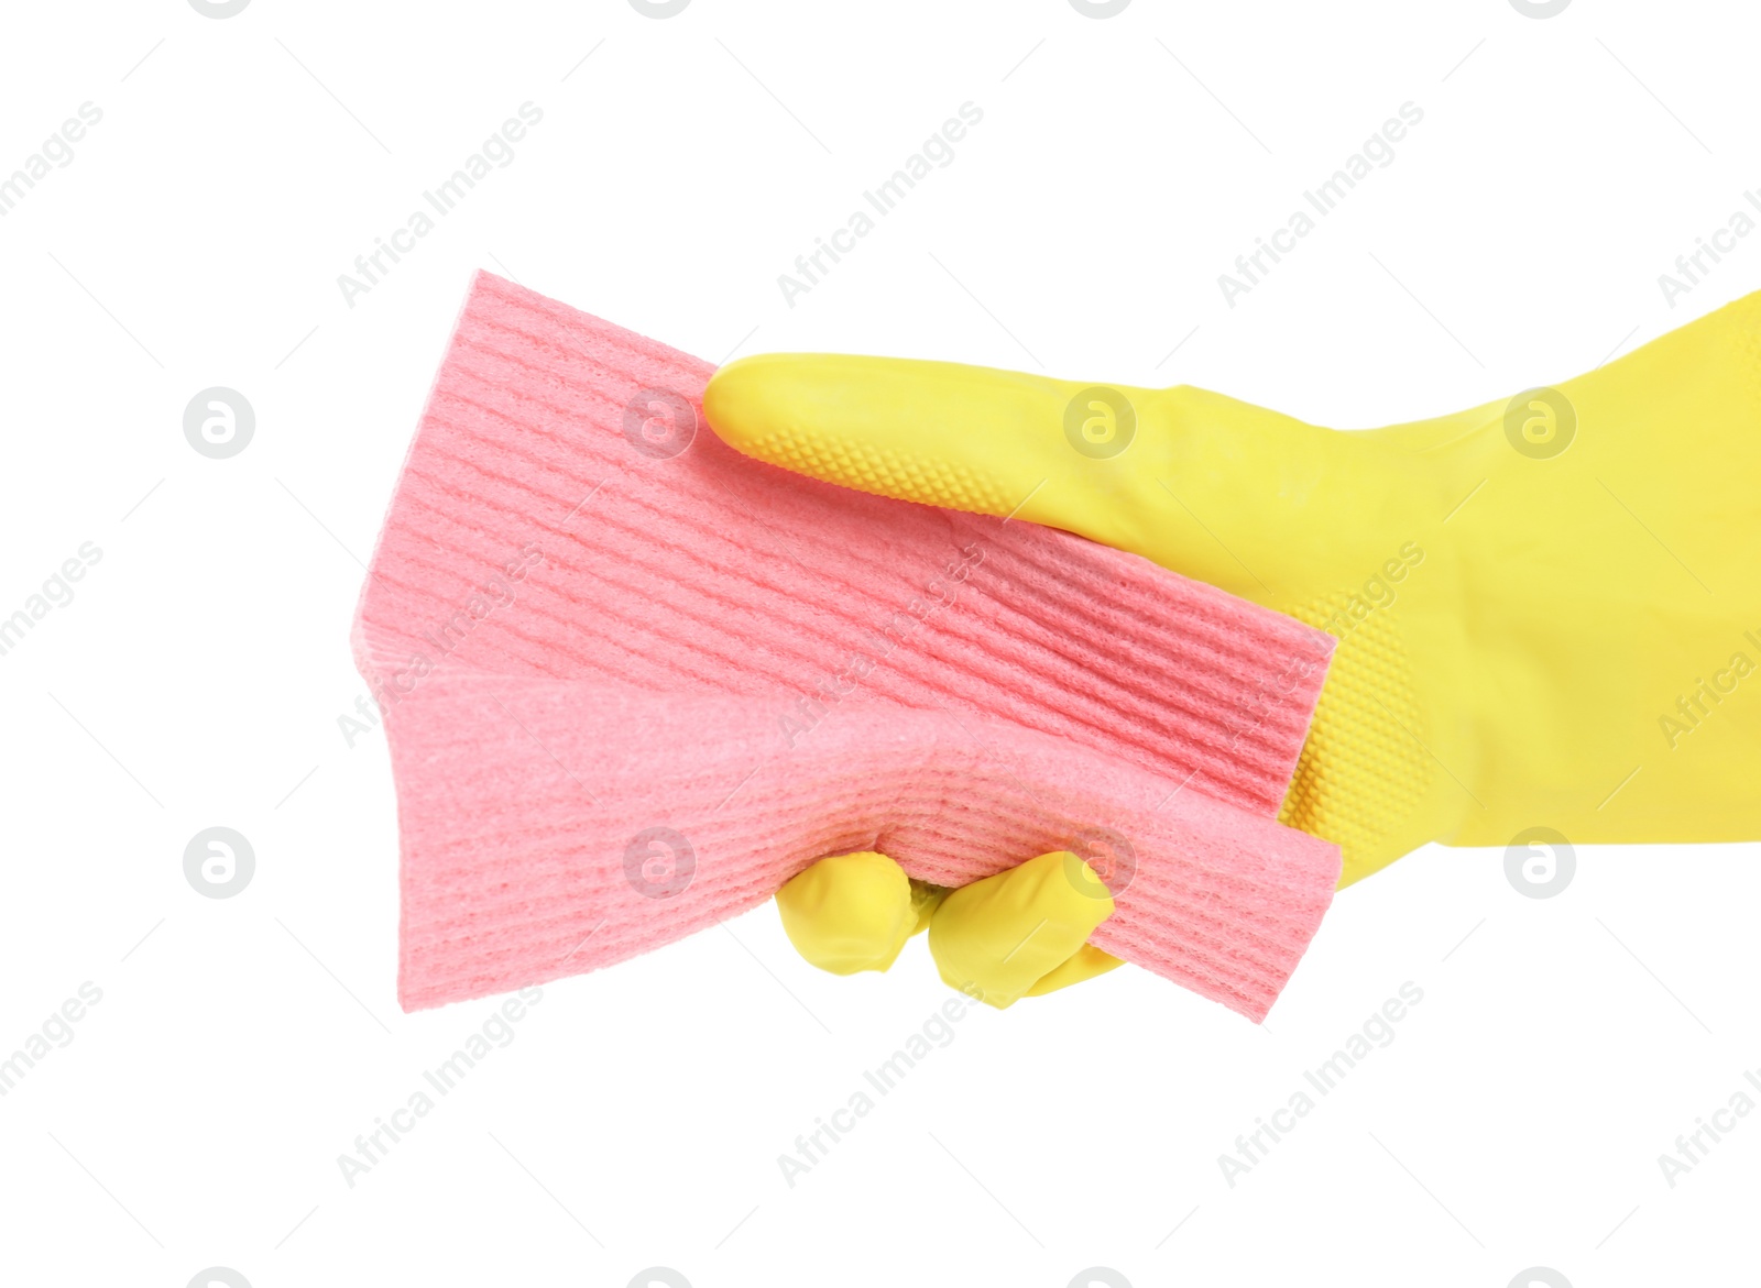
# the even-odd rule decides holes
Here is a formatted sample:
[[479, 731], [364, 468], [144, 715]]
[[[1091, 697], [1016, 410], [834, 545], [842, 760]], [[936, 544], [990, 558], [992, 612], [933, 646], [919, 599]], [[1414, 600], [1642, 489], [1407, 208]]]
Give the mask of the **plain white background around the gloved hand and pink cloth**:
[[[361, 560], [479, 266], [710, 361], [1414, 419], [1761, 282], [1756, 239], [1675, 308], [1657, 285], [1761, 187], [1756, 28], [1742, 0], [11, 5], [0, 172], [104, 118], [0, 220], [0, 611], [83, 542], [102, 560], [0, 656], [0, 1054], [83, 982], [102, 1001], [0, 1098], [0, 1281], [1752, 1269], [1761, 1117], [1673, 1189], [1657, 1156], [1761, 1066], [1756, 846], [1580, 848], [1551, 899], [1502, 852], [1414, 853], [1338, 897], [1263, 1029], [1132, 968], [974, 1014], [792, 1189], [777, 1156], [947, 994], [921, 941], [817, 975], [766, 906], [548, 985], [349, 1188], [336, 1156], [495, 1003], [398, 1010], [384, 739], [336, 718]], [[336, 276], [527, 100], [514, 162], [347, 306]], [[954, 162], [789, 308], [777, 274], [969, 100]], [[1395, 162], [1229, 308], [1217, 274], [1409, 100]], [[255, 408], [232, 459], [183, 438], [210, 385]], [[211, 825], [257, 855], [231, 899], [183, 876]], [[1229, 1188], [1217, 1156], [1407, 980], [1396, 1040]]]

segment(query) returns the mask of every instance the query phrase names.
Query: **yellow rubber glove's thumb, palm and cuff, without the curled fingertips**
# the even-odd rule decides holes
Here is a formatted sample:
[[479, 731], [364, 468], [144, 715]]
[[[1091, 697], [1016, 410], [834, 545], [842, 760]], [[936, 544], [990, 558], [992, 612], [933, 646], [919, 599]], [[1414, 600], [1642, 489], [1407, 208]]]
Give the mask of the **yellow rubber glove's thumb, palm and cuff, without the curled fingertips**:
[[1555, 389], [1338, 433], [1203, 389], [880, 357], [717, 371], [715, 431], [1136, 551], [1338, 637], [1284, 822], [1761, 838], [1761, 294]]

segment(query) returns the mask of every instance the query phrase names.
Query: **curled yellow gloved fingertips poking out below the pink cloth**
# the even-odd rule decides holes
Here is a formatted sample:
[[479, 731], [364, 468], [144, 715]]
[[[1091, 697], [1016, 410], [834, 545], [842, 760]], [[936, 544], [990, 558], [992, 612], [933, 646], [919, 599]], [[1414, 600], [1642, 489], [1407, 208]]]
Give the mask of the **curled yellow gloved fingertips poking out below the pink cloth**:
[[1120, 964], [1085, 943], [1113, 899], [1067, 852], [958, 890], [912, 882], [882, 853], [835, 855], [784, 885], [777, 911], [796, 952], [833, 975], [884, 971], [928, 931], [942, 980], [998, 1010]]

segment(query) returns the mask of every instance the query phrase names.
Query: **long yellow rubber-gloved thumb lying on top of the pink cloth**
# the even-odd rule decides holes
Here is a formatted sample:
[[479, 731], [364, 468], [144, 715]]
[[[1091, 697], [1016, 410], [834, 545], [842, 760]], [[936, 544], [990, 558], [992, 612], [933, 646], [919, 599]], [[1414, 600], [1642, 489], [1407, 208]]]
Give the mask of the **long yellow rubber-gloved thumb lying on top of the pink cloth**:
[[1064, 528], [1263, 604], [1280, 598], [1296, 519], [1324, 521], [1301, 498], [1328, 493], [1354, 438], [1190, 387], [840, 354], [740, 359], [703, 408], [771, 465]]

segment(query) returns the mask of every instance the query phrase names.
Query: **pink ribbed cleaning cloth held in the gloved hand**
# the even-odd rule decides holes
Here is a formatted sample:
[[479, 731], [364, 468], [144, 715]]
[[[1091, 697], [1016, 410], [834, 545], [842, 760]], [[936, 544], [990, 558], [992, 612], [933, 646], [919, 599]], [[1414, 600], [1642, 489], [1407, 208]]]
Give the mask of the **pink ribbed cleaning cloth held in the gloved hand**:
[[711, 366], [479, 273], [354, 625], [407, 1010], [576, 975], [828, 853], [1050, 850], [1092, 941], [1250, 1019], [1338, 850], [1277, 822], [1333, 639], [1078, 537], [740, 456]]

